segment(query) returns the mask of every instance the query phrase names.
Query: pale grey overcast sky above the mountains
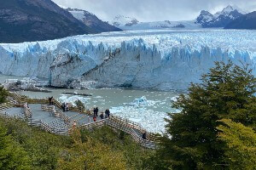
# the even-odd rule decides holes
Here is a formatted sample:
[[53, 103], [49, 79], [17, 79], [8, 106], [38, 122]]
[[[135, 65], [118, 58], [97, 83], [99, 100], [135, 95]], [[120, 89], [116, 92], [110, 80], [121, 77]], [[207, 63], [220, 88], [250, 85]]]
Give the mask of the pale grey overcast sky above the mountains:
[[256, 10], [256, 0], [53, 0], [58, 5], [81, 8], [111, 21], [116, 15], [139, 21], [193, 20], [202, 9], [212, 13], [228, 4], [245, 11]]

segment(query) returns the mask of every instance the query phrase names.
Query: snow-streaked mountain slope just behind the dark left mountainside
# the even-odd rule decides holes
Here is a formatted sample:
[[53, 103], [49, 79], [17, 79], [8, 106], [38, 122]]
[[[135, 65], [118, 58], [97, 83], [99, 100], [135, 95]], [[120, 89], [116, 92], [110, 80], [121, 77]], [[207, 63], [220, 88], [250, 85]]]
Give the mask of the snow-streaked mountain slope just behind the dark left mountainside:
[[108, 32], [108, 31], [122, 31], [121, 29], [109, 25], [108, 22], [104, 22], [98, 17], [96, 17], [95, 14], [91, 14], [88, 11], [78, 9], [78, 8], [67, 8], [67, 11], [73, 16], [81, 20], [85, 26], [90, 27], [92, 30], [97, 31], [97, 32]]

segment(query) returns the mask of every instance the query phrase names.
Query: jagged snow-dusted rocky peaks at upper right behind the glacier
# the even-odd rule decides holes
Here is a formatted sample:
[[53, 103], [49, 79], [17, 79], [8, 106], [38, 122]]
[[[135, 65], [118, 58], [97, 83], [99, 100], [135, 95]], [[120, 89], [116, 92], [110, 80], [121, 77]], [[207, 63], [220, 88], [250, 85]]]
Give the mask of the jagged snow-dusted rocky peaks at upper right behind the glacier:
[[236, 6], [227, 6], [222, 11], [211, 14], [206, 10], [202, 10], [201, 14], [197, 17], [195, 23], [200, 24], [202, 27], [225, 27], [230, 24], [231, 21], [236, 20], [246, 14], [241, 8]]

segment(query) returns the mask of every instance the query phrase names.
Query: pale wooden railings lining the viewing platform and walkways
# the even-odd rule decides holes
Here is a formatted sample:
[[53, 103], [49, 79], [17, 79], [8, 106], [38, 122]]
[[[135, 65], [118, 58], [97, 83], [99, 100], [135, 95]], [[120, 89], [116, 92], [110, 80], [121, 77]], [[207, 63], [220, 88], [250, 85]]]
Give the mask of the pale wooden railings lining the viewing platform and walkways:
[[[16, 93], [12, 93], [12, 97], [20, 102], [21, 104], [23, 102], [27, 102], [29, 104], [42, 104], [42, 109], [43, 111], [53, 111], [53, 108], [50, 106], [47, 106], [45, 104], [49, 103], [48, 99], [29, 99], [26, 98], [24, 96], [20, 96], [19, 94]], [[58, 107], [59, 109], [61, 109], [61, 103], [56, 100], [53, 99], [53, 103], [56, 107]], [[11, 103], [9, 103], [8, 105], [3, 105], [2, 107], [8, 107], [10, 105], [13, 105]], [[1, 105], [0, 105], [0, 110], [1, 110]], [[69, 107], [69, 111], [75, 111], [75, 112], [80, 112], [80, 109], [78, 107], [72, 106]], [[89, 113], [91, 114], [91, 112], [89, 110], [84, 111], [85, 113]], [[71, 118], [66, 116], [62, 111], [55, 111], [55, 113], [60, 116], [64, 122], [68, 123], [69, 126], [70, 125], [70, 120]], [[79, 115], [79, 114], [78, 114]], [[75, 115], [77, 116], [77, 115]], [[75, 117], [73, 116], [73, 117]], [[87, 115], [84, 115], [87, 116]], [[80, 117], [80, 119], [84, 118], [84, 116]], [[39, 124], [39, 127], [44, 128], [46, 131], [51, 132], [51, 133], [59, 133], [59, 134], [67, 134], [66, 130], [64, 129], [55, 129], [54, 127], [50, 127], [47, 123], [45, 122], [37, 122], [37, 121], [33, 121], [31, 119], [31, 122], [35, 125]], [[131, 134], [132, 139], [134, 139], [138, 144], [143, 145], [144, 147], [150, 148], [150, 149], [154, 149], [156, 147], [156, 143], [157, 143], [157, 136], [154, 135], [154, 133], [148, 133], [146, 129], [144, 129], [143, 127], [141, 127], [138, 123], [136, 122], [131, 122], [128, 119], [124, 119], [121, 118], [119, 116], [113, 116], [111, 115], [110, 117], [108, 117], [107, 119], [103, 119], [101, 121], [97, 121], [97, 122], [90, 122], [88, 124], [83, 124], [80, 127], [81, 128], [87, 128], [87, 129], [91, 129], [94, 127], [102, 127], [104, 124], [108, 125], [109, 127], [113, 127], [116, 129], [119, 129], [125, 133], [129, 133]], [[68, 133], [72, 133], [72, 129], [70, 128], [68, 130]], [[143, 133], [146, 134], [146, 139], [143, 139]]]

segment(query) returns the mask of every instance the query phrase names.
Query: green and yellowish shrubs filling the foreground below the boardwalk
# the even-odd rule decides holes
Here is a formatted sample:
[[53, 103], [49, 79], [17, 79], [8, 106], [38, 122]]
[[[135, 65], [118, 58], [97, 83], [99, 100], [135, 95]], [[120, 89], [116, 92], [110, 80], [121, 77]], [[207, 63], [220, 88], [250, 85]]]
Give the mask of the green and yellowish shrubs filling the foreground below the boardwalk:
[[[25, 150], [29, 165], [35, 170], [79, 169], [79, 163], [84, 160], [90, 160], [88, 165], [85, 164], [90, 169], [104, 169], [104, 166], [107, 169], [122, 169], [124, 166], [125, 169], [147, 169], [143, 167], [147, 167], [143, 162], [152, 155], [151, 150], [134, 143], [129, 135], [122, 134], [123, 139], [120, 139], [120, 132], [114, 132], [109, 127], [97, 128], [93, 132], [81, 130], [81, 137], [70, 138], [46, 133], [15, 119], [0, 118], [0, 124], [7, 129], [7, 135], [20, 146], [20, 150]], [[88, 155], [83, 156], [82, 150], [88, 150]], [[121, 161], [117, 167], [116, 161]]]

